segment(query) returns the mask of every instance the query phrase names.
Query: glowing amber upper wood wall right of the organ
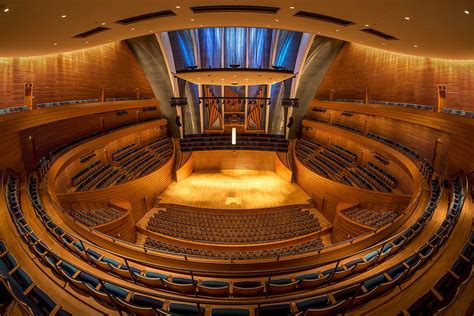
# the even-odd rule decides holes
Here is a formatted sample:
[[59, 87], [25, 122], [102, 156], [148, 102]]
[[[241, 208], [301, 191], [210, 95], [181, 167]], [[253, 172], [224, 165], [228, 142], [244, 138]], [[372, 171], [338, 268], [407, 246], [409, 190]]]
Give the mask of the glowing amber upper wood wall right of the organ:
[[437, 105], [437, 86], [447, 86], [448, 107], [474, 111], [474, 60], [395, 54], [347, 43], [329, 68], [317, 98], [364, 99]]

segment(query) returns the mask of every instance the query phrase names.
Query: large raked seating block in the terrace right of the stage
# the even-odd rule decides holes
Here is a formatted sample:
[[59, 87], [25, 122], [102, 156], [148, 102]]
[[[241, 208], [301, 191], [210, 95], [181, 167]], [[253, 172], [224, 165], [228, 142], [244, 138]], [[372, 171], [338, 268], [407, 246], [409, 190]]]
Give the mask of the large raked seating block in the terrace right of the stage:
[[301, 138], [296, 142], [296, 157], [314, 172], [346, 185], [356, 185], [365, 190], [392, 192], [396, 179], [380, 167], [369, 163], [357, 165], [357, 155], [338, 145], [323, 147]]

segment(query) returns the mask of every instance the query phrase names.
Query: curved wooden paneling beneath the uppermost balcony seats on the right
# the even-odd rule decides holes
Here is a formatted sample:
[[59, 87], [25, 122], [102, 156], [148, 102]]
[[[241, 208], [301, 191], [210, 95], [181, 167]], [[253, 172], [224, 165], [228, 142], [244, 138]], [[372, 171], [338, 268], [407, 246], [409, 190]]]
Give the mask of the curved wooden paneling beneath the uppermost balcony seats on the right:
[[[433, 162], [435, 143], [440, 140], [443, 152], [439, 173], [450, 176], [460, 170], [466, 174], [474, 171], [474, 139], [471, 136], [474, 135], [474, 120], [471, 118], [376, 104], [319, 100], [311, 102], [310, 116], [319, 115], [311, 111], [312, 107], [364, 114], [369, 120], [369, 132], [408, 146], [430, 162]], [[362, 143], [367, 141], [362, 140]]]

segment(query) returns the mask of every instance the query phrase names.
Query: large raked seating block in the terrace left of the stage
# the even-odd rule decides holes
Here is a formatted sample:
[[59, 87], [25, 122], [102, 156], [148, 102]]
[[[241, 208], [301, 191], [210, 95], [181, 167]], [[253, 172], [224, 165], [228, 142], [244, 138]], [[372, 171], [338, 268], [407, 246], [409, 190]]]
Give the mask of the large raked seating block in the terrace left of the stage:
[[81, 169], [72, 177], [71, 184], [76, 192], [83, 192], [125, 183], [153, 172], [172, 155], [173, 146], [168, 137], [147, 146], [129, 144], [112, 152], [112, 163], [95, 161]]

